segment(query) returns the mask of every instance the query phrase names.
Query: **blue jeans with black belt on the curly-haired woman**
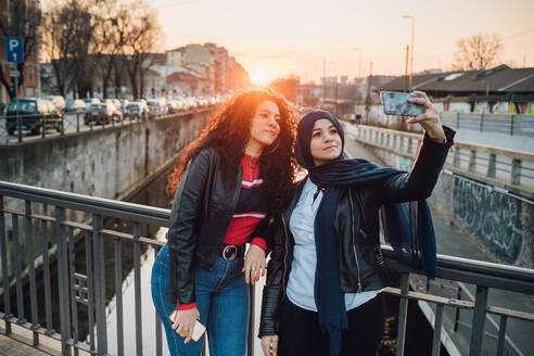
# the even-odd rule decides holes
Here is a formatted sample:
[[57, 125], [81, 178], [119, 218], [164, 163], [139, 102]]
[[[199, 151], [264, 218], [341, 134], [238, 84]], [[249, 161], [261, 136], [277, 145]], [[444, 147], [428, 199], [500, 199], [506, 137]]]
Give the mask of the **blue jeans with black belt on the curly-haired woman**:
[[[152, 301], [163, 320], [171, 356], [199, 356], [204, 336], [185, 344], [168, 317], [176, 304], [168, 301], [168, 247], [165, 244], [152, 267]], [[213, 270], [195, 268], [196, 308], [206, 326], [211, 356], [244, 356], [249, 332], [249, 287], [244, 281], [243, 257], [218, 257]]]

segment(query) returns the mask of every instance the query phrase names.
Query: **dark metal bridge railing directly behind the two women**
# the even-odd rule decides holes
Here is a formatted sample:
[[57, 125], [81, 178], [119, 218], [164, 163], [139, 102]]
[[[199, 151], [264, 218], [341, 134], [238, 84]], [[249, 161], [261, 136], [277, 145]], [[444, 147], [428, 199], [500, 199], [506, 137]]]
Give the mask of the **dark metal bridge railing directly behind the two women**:
[[[106, 355], [110, 334], [105, 309], [110, 294], [115, 294], [117, 354], [124, 355], [125, 340], [135, 340], [136, 353], [142, 355], [145, 341], [142, 326], [154, 322], [155, 354], [162, 355], [161, 320], [157, 315], [152, 320], [142, 320], [141, 317], [142, 309], [152, 301], [141, 300], [141, 289], [148, 285], [148, 281], [141, 280], [140, 265], [142, 250], [151, 246], [157, 254], [163, 244], [143, 231], [149, 226], [166, 227], [168, 218], [168, 209], [0, 181], [3, 294], [0, 318], [5, 322], [5, 334], [12, 334], [12, 323], [15, 323], [31, 331], [31, 344], [36, 348], [41, 345], [40, 338], [46, 336], [61, 341], [63, 355], [77, 355], [81, 351]], [[118, 219], [112, 221], [112, 228], [104, 225], [104, 220], [110, 219]], [[123, 313], [122, 277], [126, 268], [124, 249], [127, 246], [131, 247], [135, 290], [135, 334], [131, 335], [125, 335]], [[80, 249], [84, 251], [81, 256]], [[397, 355], [404, 354], [410, 298], [435, 305], [432, 355], [440, 354], [444, 307], [473, 312], [470, 355], [482, 354], [487, 314], [500, 316], [498, 355], [503, 355], [505, 347], [507, 320], [534, 321], [534, 314], [494, 307], [487, 303], [490, 289], [534, 295], [534, 270], [440, 255], [437, 278], [474, 284], [475, 298], [472, 302], [435, 295], [428, 288], [425, 293], [410, 291], [410, 276], [417, 274], [398, 265], [391, 249], [383, 246], [382, 250], [390, 268], [402, 274], [400, 288], [386, 289], [386, 293], [400, 300]], [[52, 263], [55, 263], [58, 271], [55, 279], [51, 278]], [[79, 267], [80, 264], [85, 267]], [[109, 276], [105, 274], [111, 268], [112, 282], [106, 280]], [[37, 279], [37, 274], [42, 277]], [[38, 281], [43, 284], [39, 295]], [[54, 303], [55, 297], [59, 303]], [[249, 355], [254, 355], [254, 344], [258, 341], [253, 326], [254, 318], [258, 316], [254, 314], [254, 294], [251, 300], [247, 342]], [[54, 313], [55, 309], [59, 313]], [[81, 328], [84, 323], [85, 329]], [[81, 329], [88, 334], [87, 341], [82, 340]]]

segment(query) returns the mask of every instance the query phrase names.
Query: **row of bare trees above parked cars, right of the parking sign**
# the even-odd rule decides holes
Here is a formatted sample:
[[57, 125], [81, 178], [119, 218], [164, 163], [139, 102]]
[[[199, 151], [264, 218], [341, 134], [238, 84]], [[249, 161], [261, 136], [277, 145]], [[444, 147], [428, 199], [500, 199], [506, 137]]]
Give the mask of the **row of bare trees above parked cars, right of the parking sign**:
[[162, 44], [156, 11], [143, 1], [54, 1], [42, 13], [42, 51], [51, 60], [56, 90], [93, 96], [100, 76], [102, 94], [118, 97], [128, 79], [134, 98], [144, 92], [151, 55]]

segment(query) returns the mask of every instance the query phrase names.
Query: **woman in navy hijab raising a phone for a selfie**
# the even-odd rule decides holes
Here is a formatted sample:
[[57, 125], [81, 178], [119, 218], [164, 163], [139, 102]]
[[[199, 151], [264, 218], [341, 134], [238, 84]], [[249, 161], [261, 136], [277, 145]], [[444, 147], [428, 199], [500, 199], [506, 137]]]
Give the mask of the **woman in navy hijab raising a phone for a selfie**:
[[[374, 355], [384, 328], [382, 290], [389, 284], [380, 249], [435, 275], [435, 239], [425, 199], [435, 186], [455, 132], [425, 106], [408, 119], [425, 130], [409, 173], [343, 157], [344, 135], [326, 111], [304, 115], [295, 157], [308, 170], [272, 227], [259, 336], [266, 356]], [[409, 202], [409, 203], [404, 203]]]

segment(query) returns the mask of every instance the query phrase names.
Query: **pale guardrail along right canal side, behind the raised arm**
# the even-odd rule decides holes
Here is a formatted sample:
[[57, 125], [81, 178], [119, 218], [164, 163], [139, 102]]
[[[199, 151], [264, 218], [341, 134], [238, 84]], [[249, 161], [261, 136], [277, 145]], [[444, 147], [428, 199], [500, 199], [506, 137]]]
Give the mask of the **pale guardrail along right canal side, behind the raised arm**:
[[[394, 154], [415, 158], [420, 134], [359, 125], [358, 141]], [[534, 154], [456, 141], [445, 167], [459, 175], [492, 182], [501, 189], [534, 195]]]

